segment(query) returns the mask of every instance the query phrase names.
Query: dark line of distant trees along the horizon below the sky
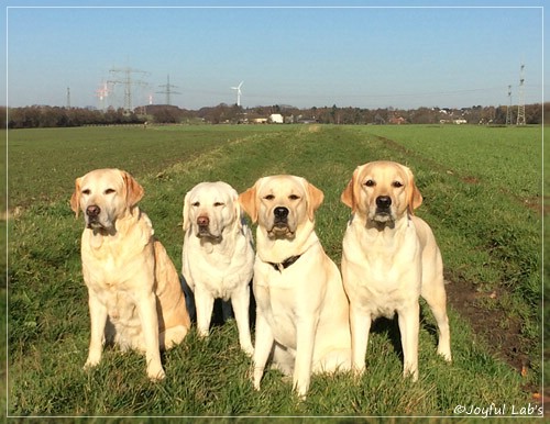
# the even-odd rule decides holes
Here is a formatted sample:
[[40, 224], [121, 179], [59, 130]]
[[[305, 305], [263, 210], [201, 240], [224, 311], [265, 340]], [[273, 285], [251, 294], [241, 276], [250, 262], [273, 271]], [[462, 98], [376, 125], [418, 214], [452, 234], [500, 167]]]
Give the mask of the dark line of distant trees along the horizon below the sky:
[[[542, 109], [550, 112], [550, 103], [528, 104], [525, 107], [526, 123], [541, 124]], [[418, 109], [363, 109], [332, 107], [298, 109], [292, 105], [268, 105], [242, 108], [237, 104], [220, 103], [199, 110], [186, 110], [174, 105], [146, 105], [125, 111], [107, 111], [89, 108], [59, 108], [32, 105], [24, 108], [0, 108], [0, 124], [7, 129], [64, 127], [84, 125], [124, 125], [124, 124], [223, 124], [254, 123], [271, 114], [282, 114], [287, 123], [322, 124], [442, 124], [469, 123], [505, 125], [507, 107], [475, 105], [462, 109], [418, 108]], [[510, 108], [508, 121], [517, 122], [518, 108]], [[550, 113], [546, 113], [550, 116]]]

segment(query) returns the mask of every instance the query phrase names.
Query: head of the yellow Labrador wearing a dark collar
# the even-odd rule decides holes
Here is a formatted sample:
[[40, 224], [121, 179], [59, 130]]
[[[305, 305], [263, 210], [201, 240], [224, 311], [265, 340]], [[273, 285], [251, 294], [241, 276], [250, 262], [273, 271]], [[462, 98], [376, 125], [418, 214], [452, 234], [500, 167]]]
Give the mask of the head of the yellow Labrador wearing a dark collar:
[[279, 175], [260, 178], [239, 196], [244, 211], [270, 238], [294, 238], [300, 225], [315, 222], [323, 193], [301, 177]]

